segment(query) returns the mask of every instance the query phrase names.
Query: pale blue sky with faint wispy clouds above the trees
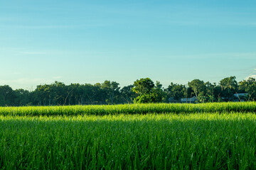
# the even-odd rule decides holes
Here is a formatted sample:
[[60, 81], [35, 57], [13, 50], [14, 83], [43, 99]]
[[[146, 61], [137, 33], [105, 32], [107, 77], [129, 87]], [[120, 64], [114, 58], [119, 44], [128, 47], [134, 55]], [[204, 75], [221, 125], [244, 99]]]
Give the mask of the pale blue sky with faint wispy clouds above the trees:
[[0, 1], [0, 85], [255, 75], [255, 0]]

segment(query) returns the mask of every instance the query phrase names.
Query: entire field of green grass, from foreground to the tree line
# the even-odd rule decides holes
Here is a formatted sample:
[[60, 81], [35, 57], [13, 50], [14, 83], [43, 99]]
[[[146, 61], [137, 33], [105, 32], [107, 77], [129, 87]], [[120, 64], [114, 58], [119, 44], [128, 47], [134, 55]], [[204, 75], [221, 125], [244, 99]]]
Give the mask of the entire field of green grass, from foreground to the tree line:
[[0, 169], [255, 169], [255, 105], [0, 108]]

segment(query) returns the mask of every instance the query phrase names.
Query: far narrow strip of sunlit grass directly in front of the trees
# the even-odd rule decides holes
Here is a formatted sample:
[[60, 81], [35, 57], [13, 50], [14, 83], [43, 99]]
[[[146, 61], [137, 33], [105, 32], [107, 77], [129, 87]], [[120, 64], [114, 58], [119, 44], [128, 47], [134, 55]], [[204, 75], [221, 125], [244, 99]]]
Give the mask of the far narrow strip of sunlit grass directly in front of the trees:
[[117, 115], [146, 113], [230, 113], [256, 112], [255, 102], [245, 103], [151, 103], [109, 106], [0, 107], [0, 115]]

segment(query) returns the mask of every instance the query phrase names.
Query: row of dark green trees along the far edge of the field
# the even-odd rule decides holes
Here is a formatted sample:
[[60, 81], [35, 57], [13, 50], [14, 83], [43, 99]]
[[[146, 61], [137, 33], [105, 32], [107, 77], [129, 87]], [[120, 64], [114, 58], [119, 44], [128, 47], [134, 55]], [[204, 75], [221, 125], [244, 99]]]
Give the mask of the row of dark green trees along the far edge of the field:
[[38, 85], [34, 91], [13, 90], [9, 85], [0, 86], [0, 106], [65, 106], [105, 105], [121, 103], [169, 103], [181, 98], [196, 96], [198, 103], [233, 101], [256, 101], [256, 80], [249, 78], [236, 81], [226, 77], [218, 84], [194, 79], [184, 84], [171, 83], [164, 88], [159, 81], [149, 78], [137, 79], [134, 84], [120, 87], [116, 81], [97, 84], [70, 84], [55, 81], [53, 84]]

